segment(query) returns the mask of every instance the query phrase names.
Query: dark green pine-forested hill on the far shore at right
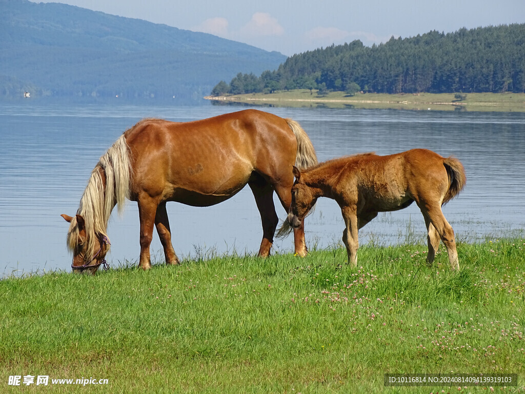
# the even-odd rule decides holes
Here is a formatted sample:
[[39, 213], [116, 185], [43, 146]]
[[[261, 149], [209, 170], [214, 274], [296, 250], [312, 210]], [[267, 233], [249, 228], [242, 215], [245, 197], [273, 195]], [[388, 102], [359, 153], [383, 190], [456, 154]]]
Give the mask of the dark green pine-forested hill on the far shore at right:
[[289, 57], [260, 77], [239, 72], [212, 95], [318, 89], [387, 94], [525, 92], [525, 24], [392, 37], [372, 47], [359, 40]]

